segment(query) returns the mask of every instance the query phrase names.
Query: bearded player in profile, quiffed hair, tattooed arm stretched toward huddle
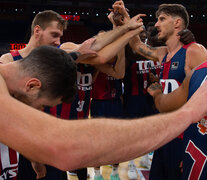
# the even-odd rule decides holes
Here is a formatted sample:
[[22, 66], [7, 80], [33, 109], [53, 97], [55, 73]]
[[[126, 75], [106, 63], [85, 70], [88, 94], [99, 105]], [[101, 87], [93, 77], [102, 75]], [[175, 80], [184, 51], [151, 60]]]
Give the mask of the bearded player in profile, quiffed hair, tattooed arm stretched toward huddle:
[[[119, 10], [122, 3], [123, 1], [117, 1], [114, 8]], [[189, 23], [185, 7], [180, 4], [162, 4], [156, 16], [158, 39], [163, 40], [166, 47], [146, 46], [139, 37], [130, 44], [137, 53], [162, 64], [160, 82], [164, 93], [169, 93], [179, 87], [186, 73], [207, 59], [207, 51], [200, 44], [183, 45], [179, 41], [178, 32], [186, 29]], [[181, 161], [182, 135], [154, 153], [150, 180], [180, 179]]]

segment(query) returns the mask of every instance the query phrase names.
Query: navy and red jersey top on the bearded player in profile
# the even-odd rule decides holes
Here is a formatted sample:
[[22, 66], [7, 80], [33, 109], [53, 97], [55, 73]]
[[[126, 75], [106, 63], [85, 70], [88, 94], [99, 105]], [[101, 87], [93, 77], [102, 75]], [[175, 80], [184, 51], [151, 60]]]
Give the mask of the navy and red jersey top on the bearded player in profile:
[[163, 87], [164, 94], [174, 91], [182, 84], [185, 78], [184, 68], [186, 50], [190, 44], [181, 47], [170, 61], [166, 62], [167, 54], [163, 58], [160, 73], [160, 83]]

